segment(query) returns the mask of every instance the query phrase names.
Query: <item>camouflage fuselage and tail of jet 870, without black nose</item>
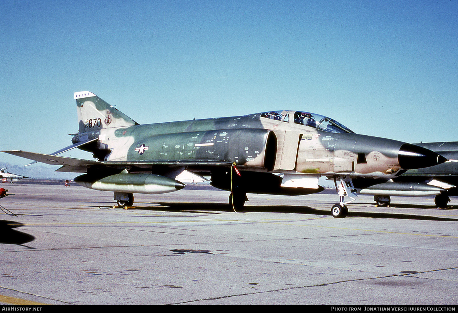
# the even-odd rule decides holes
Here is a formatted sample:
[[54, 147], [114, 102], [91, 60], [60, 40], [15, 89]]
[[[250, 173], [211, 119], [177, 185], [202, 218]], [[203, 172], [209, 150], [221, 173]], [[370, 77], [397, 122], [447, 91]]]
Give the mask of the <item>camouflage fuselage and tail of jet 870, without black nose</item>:
[[293, 119], [296, 111], [139, 125], [95, 95], [76, 102], [80, 133], [72, 141], [98, 139], [82, 149], [99, 160], [234, 162], [255, 172], [370, 177], [401, 168], [403, 142], [306, 126]]

